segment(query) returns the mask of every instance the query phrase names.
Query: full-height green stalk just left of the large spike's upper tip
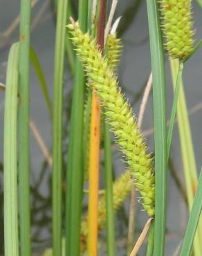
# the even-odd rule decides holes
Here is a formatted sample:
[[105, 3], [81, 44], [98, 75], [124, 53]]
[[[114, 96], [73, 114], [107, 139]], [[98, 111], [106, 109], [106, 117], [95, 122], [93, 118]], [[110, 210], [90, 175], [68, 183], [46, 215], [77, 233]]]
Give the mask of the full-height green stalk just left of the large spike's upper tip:
[[62, 110], [68, 0], [58, 0], [53, 98], [53, 256], [62, 255]]

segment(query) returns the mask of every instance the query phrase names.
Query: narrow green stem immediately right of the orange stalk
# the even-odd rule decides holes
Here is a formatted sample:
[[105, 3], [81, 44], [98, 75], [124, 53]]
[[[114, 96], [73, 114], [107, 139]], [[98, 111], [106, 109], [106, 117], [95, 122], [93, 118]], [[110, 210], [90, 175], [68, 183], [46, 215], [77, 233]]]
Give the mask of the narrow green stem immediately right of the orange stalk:
[[105, 205], [107, 217], [107, 255], [115, 256], [115, 223], [113, 210], [113, 179], [111, 163], [111, 134], [109, 125], [104, 120], [104, 176], [105, 176]]

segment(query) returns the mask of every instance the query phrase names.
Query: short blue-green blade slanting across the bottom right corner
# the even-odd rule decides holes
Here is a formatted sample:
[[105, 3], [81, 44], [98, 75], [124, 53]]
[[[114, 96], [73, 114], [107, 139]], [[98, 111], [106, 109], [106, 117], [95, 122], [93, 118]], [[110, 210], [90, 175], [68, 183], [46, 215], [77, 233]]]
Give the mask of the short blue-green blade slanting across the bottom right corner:
[[202, 209], [202, 168], [199, 176], [198, 188], [194, 196], [194, 203], [192, 205], [192, 210], [190, 212], [190, 219], [187, 223], [187, 228], [185, 232], [185, 237], [183, 239], [183, 245], [181, 247], [180, 256], [190, 255], [192, 250], [192, 244], [194, 240], [194, 235], [196, 232], [197, 224], [199, 223], [199, 218]]

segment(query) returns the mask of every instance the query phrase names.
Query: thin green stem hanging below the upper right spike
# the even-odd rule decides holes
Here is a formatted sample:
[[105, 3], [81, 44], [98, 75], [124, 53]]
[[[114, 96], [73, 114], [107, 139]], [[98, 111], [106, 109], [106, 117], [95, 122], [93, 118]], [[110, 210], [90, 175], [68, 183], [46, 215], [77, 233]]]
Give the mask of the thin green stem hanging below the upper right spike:
[[169, 158], [169, 150], [170, 150], [170, 146], [171, 146], [171, 142], [172, 142], [172, 134], [173, 134], [173, 129], [174, 129], [174, 121], [175, 121], [175, 117], [176, 117], [177, 103], [178, 103], [179, 93], [180, 93], [180, 89], [181, 89], [182, 75], [183, 75], [183, 62], [180, 62], [179, 66], [178, 66], [178, 75], [176, 78], [174, 100], [172, 103], [172, 111], [171, 111], [171, 116], [170, 116], [170, 120], [169, 120], [168, 132], [167, 132], [167, 161]]

